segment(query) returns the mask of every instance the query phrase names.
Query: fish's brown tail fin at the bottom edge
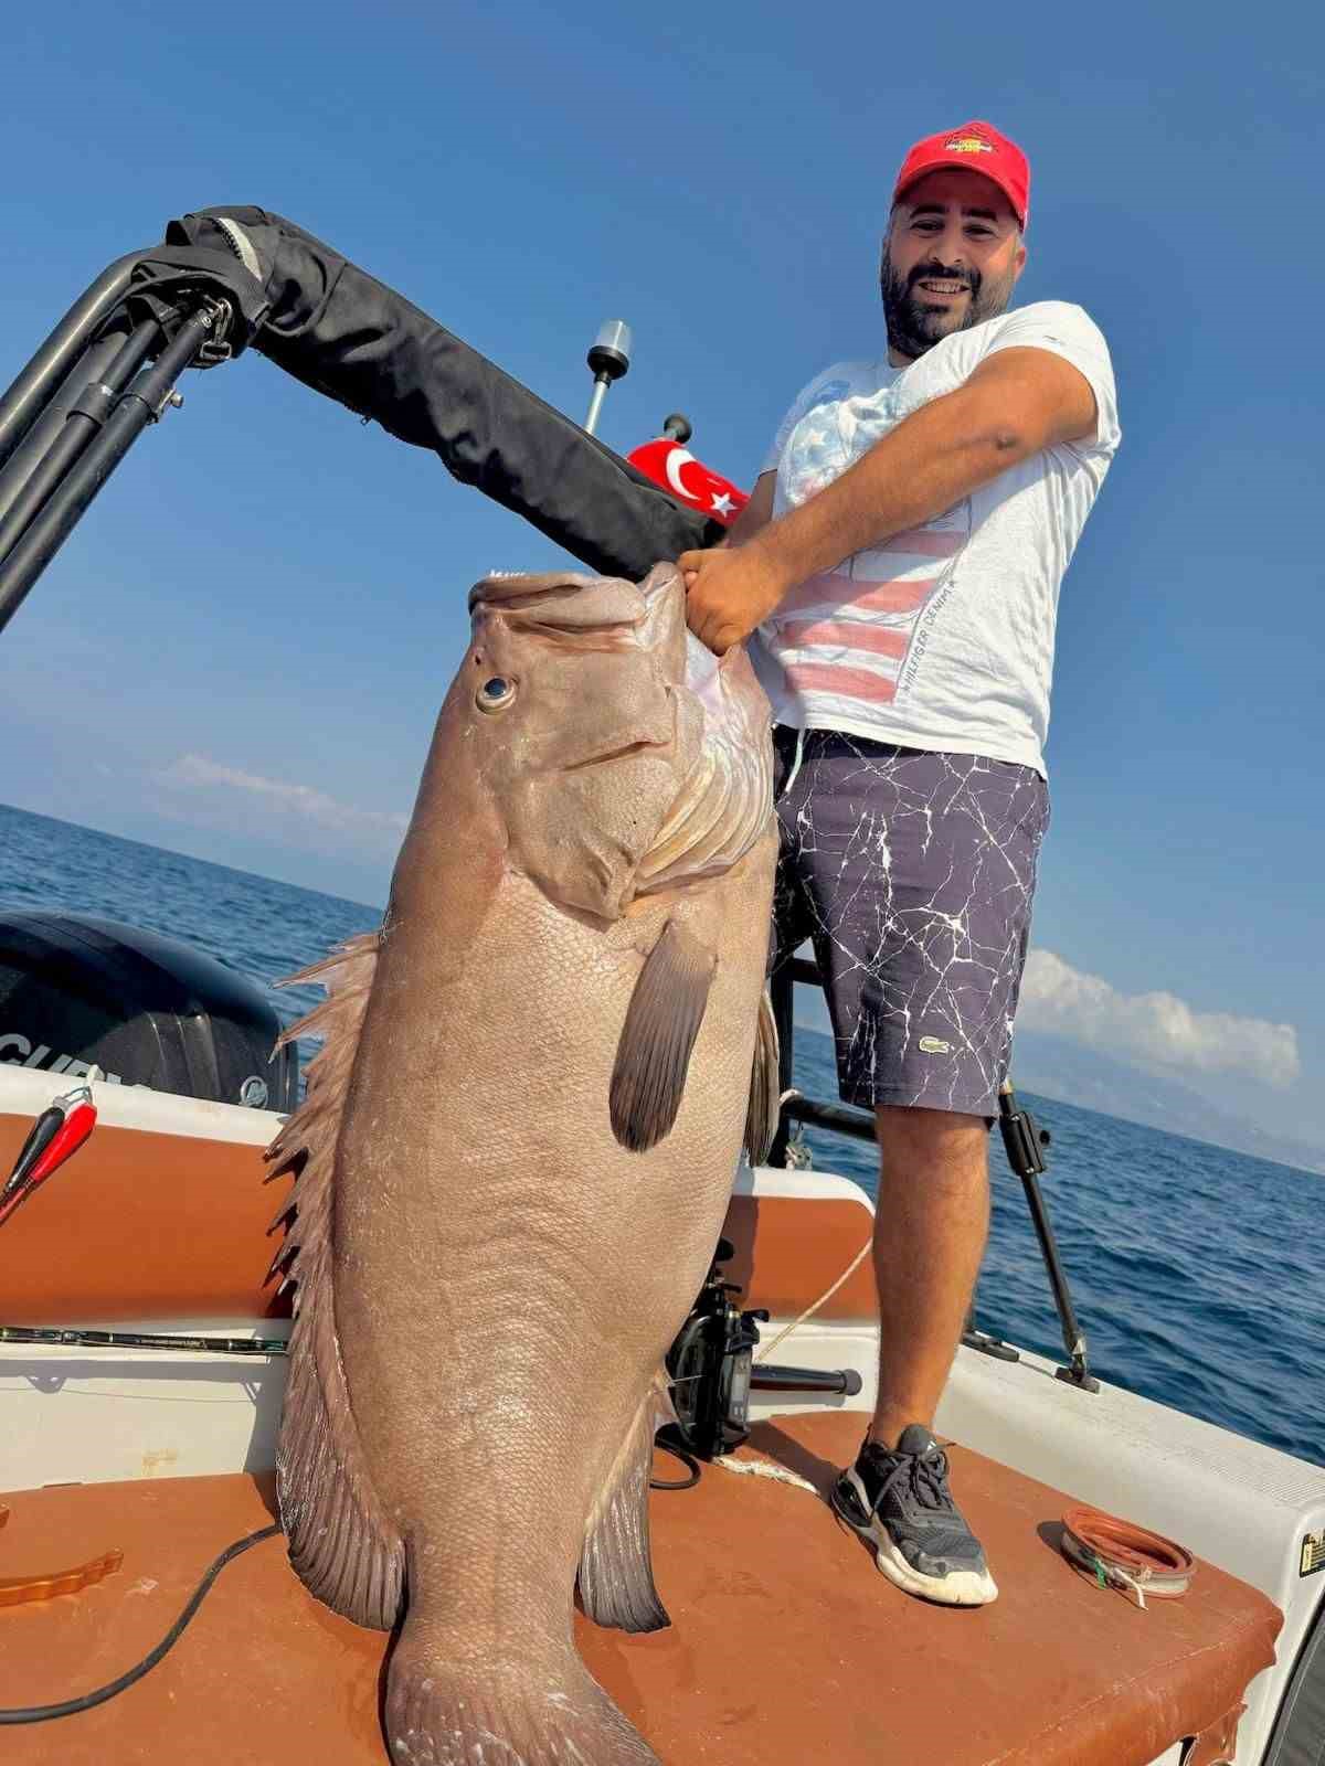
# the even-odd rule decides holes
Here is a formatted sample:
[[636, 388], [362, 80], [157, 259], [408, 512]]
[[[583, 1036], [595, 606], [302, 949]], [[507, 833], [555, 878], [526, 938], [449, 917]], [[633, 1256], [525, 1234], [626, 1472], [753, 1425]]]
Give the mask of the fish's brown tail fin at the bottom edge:
[[661, 1766], [574, 1649], [551, 1664], [461, 1665], [408, 1619], [385, 1731], [396, 1766]]

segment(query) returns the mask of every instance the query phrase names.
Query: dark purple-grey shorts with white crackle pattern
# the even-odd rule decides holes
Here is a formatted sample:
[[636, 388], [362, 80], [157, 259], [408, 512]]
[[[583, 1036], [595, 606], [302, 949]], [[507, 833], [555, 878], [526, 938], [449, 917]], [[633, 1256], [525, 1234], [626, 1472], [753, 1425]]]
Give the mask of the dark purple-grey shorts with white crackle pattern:
[[[811, 940], [843, 1100], [996, 1114], [1049, 798], [1030, 766], [774, 729], [770, 968]], [[795, 777], [793, 777], [795, 772]], [[790, 789], [788, 789], [790, 781]]]

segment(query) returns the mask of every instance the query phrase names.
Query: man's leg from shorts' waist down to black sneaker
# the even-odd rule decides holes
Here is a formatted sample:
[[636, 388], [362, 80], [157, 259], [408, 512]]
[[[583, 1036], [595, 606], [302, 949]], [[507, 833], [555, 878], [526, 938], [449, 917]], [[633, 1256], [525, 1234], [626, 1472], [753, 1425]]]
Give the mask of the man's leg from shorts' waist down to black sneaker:
[[822, 733], [802, 795], [837, 1088], [874, 1111], [883, 1155], [878, 1411], [832, 1506], [899, 1588], [984, 1605], [998, 1589], [931, 1425], [988, 1231], [986, 1120], [1007, 1068], [1044, 781]]

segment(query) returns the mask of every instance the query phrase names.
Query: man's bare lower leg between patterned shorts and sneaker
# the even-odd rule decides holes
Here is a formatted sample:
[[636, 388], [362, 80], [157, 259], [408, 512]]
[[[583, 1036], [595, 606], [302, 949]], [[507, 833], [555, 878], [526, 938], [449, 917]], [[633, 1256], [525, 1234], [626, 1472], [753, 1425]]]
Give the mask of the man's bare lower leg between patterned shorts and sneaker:
[[878, 1399], [869, 1439], [933, 1429], [989, 1233], [988, 1130], [979, 1116], [883, 1106], [874, 1279]]

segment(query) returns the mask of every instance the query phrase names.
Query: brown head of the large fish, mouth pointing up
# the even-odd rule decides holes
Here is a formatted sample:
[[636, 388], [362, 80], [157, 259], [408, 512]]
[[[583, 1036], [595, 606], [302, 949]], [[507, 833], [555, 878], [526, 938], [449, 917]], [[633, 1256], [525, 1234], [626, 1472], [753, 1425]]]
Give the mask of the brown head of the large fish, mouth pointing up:
[[443, 708], [447, 749], [465, 754], [502, 823], [505, 864], [565, 908], [617, 918], [650, 887], [650, 855], [687, 781], [733, 724], [730, 699], [753, 708], [746, 722], [767, 747], [753, 671], [740, 652], [728, 666], [687, 632], [675, 565], [640, 585], [489, 576], [470, 592], [470, 616]]

